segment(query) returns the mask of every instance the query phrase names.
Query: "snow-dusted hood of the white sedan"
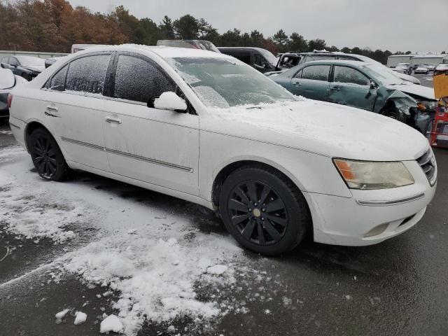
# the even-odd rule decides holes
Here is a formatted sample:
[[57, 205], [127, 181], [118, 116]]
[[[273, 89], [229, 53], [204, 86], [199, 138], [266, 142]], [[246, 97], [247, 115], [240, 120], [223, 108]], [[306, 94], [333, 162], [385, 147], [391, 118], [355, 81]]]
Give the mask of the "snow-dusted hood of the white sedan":
[[286, 146], [331, 158], [415, 160], [428, 141], [412, 127], [376, 113], [303, 99], [209, 109], [201, 131]]

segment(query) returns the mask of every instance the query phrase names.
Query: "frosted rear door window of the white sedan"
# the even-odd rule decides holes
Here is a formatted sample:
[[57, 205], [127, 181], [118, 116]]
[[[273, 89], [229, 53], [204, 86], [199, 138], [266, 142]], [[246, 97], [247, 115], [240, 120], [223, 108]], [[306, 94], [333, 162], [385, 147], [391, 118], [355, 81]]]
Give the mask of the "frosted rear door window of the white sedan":
[[102, 94], [110, 58], [111, 55], [92, 55], [75, 59], [70, 63], [65, 89]]

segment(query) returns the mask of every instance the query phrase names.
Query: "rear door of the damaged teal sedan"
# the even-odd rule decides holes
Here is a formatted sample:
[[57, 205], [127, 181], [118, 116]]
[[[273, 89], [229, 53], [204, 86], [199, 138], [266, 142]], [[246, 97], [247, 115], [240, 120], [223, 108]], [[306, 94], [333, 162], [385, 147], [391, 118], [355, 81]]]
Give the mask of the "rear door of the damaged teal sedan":
[[305, 66], [291, 78], [290, 92], [297, 96], [326, 102], [330, 86], [328, 83], [330, 69], [331, 66], [328, 64]]

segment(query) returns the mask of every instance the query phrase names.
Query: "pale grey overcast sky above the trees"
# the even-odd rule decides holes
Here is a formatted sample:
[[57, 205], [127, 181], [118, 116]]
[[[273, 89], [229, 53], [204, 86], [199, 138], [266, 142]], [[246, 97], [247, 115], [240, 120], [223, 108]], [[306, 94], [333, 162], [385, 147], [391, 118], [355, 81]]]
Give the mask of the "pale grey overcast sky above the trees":
[[[448, 52], [448, 0], [69, 0], [110, 12], [123, 4], [137, 18], [159, 23], [184, 14], [204, 18], [222, 34], [237, 28], [272, 36], [279, 29], [323, 38], [339, 48]], [[440, 15], [440, 18], [437, 18]]]

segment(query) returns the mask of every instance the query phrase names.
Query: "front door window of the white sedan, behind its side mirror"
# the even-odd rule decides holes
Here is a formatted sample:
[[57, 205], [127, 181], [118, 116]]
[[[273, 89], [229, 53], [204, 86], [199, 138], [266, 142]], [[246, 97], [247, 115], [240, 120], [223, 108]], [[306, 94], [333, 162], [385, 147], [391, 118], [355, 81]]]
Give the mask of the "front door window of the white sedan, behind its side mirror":
[[172, 80], [153, 62], [130, 55], [118, 56], [114, 97], [147, 103], [163, 92], [175, 90]]

